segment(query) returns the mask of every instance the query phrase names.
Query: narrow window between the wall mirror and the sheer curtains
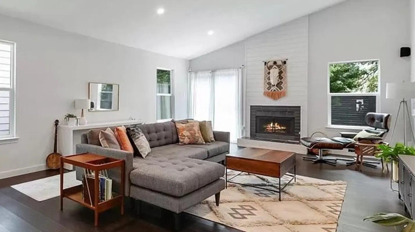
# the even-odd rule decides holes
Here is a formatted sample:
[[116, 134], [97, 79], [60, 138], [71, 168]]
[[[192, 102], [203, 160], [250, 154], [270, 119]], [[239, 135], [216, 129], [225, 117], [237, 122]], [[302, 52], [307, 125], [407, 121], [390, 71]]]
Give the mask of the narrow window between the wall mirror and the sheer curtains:
[[157, 69], [157, 121], [173, 119], [171, 70]]

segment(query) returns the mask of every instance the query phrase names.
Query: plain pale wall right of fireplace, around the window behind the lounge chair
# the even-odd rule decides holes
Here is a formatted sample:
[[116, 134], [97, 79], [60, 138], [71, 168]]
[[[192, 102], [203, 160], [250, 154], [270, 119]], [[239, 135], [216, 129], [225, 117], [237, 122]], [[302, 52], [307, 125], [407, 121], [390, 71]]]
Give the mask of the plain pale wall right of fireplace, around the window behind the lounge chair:
[[[399, 57], [400, 47], [410, 45], [409, 1], [348, 0], [310, 15], [309, 20], [308, 131], [329, 136], [344, 131], [325, 128], [327, 66], [332, 61], [380, 59], [379, 111], [395, 116], [400, 100], [385, 99], [385, 91], [386, 83], [410, 81], [410, 59]], [[394, 140], [402, 141], [402, 129], [397, 127]]]

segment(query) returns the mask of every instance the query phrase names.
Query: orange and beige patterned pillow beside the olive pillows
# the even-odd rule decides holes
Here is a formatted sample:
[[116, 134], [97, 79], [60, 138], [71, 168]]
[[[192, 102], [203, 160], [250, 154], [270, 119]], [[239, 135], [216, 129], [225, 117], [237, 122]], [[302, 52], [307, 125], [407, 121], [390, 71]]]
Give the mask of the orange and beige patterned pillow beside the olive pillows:
[[186, 124], [176, 122], [179, 144], [206, 144], [200, 132], [199, 122], [189, 122]]

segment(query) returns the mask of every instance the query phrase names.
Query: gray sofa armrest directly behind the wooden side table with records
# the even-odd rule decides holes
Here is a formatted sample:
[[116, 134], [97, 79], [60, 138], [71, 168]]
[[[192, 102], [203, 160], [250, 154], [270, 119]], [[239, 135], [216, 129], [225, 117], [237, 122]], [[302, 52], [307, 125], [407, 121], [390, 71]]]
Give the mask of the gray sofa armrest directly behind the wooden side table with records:
[[[111, 148], [104, 148], [100, 146], [90, 145], [90, 144], [76, 144], [76, 154], [80, 153], [93, 153], [105, 157], [115, 158], [115, 159], [123, 159], [125, 162], [125, 195], [129, 196], [130, 190], [130, 181], [129, 181], [129, 174], [133, 170], [133, 154], [128, 151], [122, 151], [117, 149]], [[114, 168], [107, 170], [108, 177], [110, 177], [113, 181], [115, 181], [115, 188], [118, 189], [120, 186], [120, 168]], [[76, 178], [78, 180], [82, 179], [83, 169], [76, 167]]]

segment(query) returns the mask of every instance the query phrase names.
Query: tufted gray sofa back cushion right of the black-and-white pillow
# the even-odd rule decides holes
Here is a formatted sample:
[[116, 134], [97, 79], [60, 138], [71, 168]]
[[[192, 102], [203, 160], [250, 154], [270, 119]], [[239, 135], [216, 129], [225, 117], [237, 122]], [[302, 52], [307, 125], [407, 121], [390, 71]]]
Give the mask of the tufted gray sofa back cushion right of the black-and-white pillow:
[[160, 122], [139, 125], [150, 147], [159, 147], [178, 142], [176, 125], [174, 122]]

